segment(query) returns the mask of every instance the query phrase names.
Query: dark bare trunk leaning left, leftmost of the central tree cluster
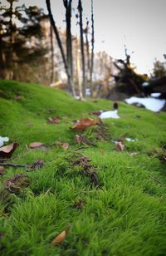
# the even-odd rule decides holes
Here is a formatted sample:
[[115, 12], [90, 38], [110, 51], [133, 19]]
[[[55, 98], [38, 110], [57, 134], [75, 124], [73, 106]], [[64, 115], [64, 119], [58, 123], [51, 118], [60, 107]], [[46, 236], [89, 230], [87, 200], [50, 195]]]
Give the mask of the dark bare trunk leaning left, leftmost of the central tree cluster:
[[53, 31], [55, 32], [55, 35], [56, 35], [56, 40], [57, 40], [58, 47], [60, 48], [60, 51], [61, 51], [61, 57], [62, 57], [64, 66], [65, 66], [66, 75], [67, 75], [67, 79], [68, 79], [68, 89], [69, 89], [69, 92], [73, 95], [73, 91], [72, 91], [73, 84], [72, 84], [72, 81], [71, 81], [71, 73], [69, 71], [69, 67], [68, 67], [67, 62], [66, 62], [65, 52], [64, 52], [64, 49], [63, 49], [62, 43], [61, 43], [61, 37], [60, 37], [58, 29], [56, 27], [56, 22], [54, 21], [54, 18], [53, 18], [52, 13], [51, 13], [50, 0], [46, 0], [46, 7], [47, 7], [47, 10], [48, 10], [48, 16], [49, 16], [50, 21], [51, 21], [51, 26], [53, 28]]

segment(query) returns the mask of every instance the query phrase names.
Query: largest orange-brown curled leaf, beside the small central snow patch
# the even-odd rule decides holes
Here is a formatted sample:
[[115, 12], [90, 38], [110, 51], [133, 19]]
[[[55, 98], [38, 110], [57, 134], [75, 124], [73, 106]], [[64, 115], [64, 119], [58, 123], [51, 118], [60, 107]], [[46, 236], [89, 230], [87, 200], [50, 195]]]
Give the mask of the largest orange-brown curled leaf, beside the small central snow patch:
[[85, 130], [90, 126], [95, 126], [100, 123], [101, 123], [100, 118], [95, 118], [95, 119], [83, 118], [80, 121], [77, 121], [75, 126], [73, 126], [72, 128], [75, 130]]

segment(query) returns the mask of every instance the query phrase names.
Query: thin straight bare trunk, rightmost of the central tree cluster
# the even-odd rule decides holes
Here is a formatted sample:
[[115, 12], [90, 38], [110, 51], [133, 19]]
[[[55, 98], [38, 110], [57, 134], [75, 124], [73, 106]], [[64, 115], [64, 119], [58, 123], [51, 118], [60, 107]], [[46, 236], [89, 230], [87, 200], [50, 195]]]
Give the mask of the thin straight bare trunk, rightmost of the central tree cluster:
[[91, 65], [90, 65], [90, 96], [93, 96], [93, 69], [94, 69], [94, 12], [93, 12], [93, 0], [91, 0]]

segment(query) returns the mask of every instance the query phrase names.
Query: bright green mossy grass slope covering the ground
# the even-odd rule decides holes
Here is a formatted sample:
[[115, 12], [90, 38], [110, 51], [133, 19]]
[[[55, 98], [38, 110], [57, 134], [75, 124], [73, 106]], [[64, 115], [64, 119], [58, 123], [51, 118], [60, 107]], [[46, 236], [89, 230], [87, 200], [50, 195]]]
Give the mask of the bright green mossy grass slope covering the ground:
[[[15, 100], [17, 94], [23, 96], [21, 101]], [[166, 145], [165, 113], [120, 103], [120, 120], [104, 123], [114, 140], [124, 133], [138, 140], [126, 142], [124, 152], [115, 151], [111, 140], [99, 140], [96, 147], [81, 150], [98, 168], [100, 189], [96, 189], [71, 165], [69, 159], [76, 157], [71, 150], [78, 147], [74, 135], [79, 133], [69, 127], [72, 120], [88, 117], [90, 111], [109, 109], [110, 101], [80, 102], [61, 91], [15, 81], [0, 81], [0, 95], [0, 135], [20, 143], [11, 161], [46, 162], [42, 169], [27, 173], [28, 188], [2, 199], [0, 211], [9, 213], [0, 216], [2, 255], [166, 253], [165, 165], [156, 157]], [[46, 114], [47, 109], [56, 109], [56, 114]], [[62, 117], [61, 123], [48, 124], [48, 116]], [[86, 130], [91, 140], [94, 130]], [[69, 142], [70, 149], [51, 147], [45, 152], [26, 147], [33, 141], [51, 145], [56, 140]], [[16, 173], [26, 171], [8, 168], [0, 184]], [[82, 209], [73, 207], [79, 199], [84, 202]], [[67, 224], [71, 229], [66, 239], [52, 247], [51, 240]]]

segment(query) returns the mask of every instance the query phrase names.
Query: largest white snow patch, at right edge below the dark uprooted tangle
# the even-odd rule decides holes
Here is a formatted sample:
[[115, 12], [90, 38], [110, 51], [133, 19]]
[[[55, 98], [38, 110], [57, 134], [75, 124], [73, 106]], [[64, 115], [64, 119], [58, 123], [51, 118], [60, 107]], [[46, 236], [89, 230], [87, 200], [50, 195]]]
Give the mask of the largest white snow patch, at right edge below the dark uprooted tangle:
[[165, 100], [159, 100], [154, 98], [139, 98], [139, 97], [131, 97], [129, 99], [125, 99], [125, 102], [128, 104], [140, 103], [145, 106], [145, 108], [149, 111], [159, 112], [164, 107]]

